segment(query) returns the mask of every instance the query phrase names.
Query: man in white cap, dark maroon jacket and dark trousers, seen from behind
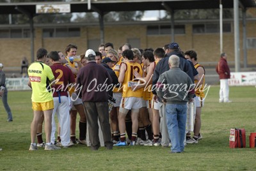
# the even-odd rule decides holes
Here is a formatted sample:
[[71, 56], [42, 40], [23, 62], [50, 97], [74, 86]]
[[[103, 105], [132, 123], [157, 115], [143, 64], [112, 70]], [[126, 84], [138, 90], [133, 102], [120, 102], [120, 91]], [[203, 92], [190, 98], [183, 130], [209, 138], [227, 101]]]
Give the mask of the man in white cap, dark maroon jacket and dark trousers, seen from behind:
[[112, 78], [104, 66], [95, 62], [95, 56], [92, 49], [86, 50], [88, 63], [79, 70], [76, 93], [81, 94], [86, 110], [91, 149], [98, 150], [100, 147], [98, 119], [104, 144], [107, 149], [113, 149], [108, 113], [108, 91], [111, 90]]

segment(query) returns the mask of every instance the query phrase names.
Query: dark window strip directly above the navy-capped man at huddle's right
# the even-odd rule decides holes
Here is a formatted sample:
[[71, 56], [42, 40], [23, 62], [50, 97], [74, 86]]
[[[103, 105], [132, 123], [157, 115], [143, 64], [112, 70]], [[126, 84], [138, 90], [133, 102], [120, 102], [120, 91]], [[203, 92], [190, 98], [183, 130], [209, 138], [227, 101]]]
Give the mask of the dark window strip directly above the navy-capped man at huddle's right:
[[[147, 26], [148, 35], [159, 35], [159, 34], [171, 34], [172, 33], [171, 25], [156, 25], [156, 26]], [[185, 34], [185, 25], [174, 26], [175, 34]]]

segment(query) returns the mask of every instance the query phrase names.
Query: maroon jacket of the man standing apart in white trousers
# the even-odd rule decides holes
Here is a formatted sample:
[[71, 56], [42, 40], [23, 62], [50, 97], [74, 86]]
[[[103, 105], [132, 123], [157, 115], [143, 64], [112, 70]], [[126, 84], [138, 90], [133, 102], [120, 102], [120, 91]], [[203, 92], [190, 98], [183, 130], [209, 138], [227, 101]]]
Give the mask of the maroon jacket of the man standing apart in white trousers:
[[220, 79], [230, 78], [230, 70], [228, 67], [227, 60], [223, 57], [220, 58], [218, 65], [216, 66], [216, 72], [219, 74]]

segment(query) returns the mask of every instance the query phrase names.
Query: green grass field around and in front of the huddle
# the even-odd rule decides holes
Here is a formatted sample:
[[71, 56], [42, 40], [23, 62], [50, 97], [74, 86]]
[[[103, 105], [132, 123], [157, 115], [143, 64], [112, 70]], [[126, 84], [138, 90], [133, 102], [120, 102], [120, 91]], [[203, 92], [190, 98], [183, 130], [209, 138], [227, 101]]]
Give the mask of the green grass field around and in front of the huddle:
[[[28, 151], [31, 92], [9, 92], [13, 122], [6, 122], [0, 105], [0, 170], [256, 170], [256, 151], [248, 136], [256, 132], [256, 88], [230, 87], [233, 103], [218, 103], [220, 87], [211, 87], [202, 110], [203, 139], [188, 144], [185, 152], [169, 154], [163, 147], [100, 147], [91, 151], [75, 145], [60, 151]], [[228, 147], [230, 128], [246, 129], [246, 149]]]

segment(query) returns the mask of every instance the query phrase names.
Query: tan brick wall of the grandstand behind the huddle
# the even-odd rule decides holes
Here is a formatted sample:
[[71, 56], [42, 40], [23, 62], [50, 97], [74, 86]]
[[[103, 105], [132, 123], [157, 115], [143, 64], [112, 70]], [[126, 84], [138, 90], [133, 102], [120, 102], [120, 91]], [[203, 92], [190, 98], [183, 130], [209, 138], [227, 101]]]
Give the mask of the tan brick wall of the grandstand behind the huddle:
[[[247, 37], [256, 38], [256, 22], [254, 20], [248, 21]], [[185, 25], [186, 34], [175, 35], [175, 41], [179, 43], [183, 51], [196, 50], [198, 53], [198, 61], [204, 63], [217, 62], [220, 57], [220, 34], [193, 34], [192, 24]], [[234, 33], [223, 34], [223, 51], [228, 54], [228, 61], [234, 61]], [[170, 43], [170, 35], [147, 35], [147, 26], [142, 24], [128, 25], [128, 26], [106, 26], [105, 42], [112, 42], [117, 50], [128, 39], [140, 39], [140, 47], [138, 48], [157, 48], [163, 47], [166, 43]], [[240, 58], [243, 61], [243, 33], [240, 22]], [[77, 54], [82, 54], [88, 48], [89, 40], [99, 40], [100, 31], [99, 26], [81, 26], [81, 36], [72, 38], [42, 38], [42, 28], [35, 28], [35, 53], [40, 47], [46, 48], [49, 52], [51, 50], [60, 50], [65, 54], [65, 47], [69, 43], [77, 45]], [[0, 39], [1, 43], [1, 59], [0, 63], [4, 63], [6, 67], [19, 67], [22, 57], [26, 56], [29, 61], [30, 57], [30, 38], [11, 38]], [[97, 50], [97, 47], [96, 49]], [[256, 48], [248, 49], [248, 64], [256, 64]], [[36, 55], [35, 55], [36, 56]]]

